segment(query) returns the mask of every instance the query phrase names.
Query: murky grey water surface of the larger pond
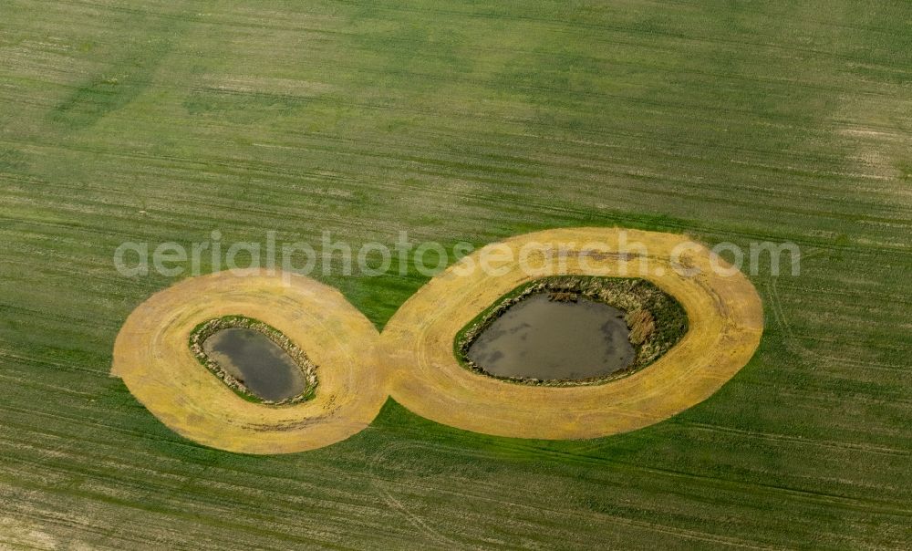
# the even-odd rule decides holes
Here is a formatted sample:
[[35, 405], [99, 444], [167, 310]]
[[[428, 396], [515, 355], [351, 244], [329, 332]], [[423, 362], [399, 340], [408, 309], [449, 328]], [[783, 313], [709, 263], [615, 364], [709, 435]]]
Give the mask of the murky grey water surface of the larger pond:
[[467, 355], [501, 377], [603, 377], [626, 368], [636, 355], [624, 315], [583, 297], [558, 302], [546, 293], [535, 294], [494, 320]]

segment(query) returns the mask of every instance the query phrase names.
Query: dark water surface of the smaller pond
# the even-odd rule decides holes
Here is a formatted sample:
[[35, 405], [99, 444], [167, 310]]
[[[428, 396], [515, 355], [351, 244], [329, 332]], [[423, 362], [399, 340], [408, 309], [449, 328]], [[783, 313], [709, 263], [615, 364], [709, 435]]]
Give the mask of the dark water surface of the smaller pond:
[[263, 400], [285, 400], [304, 391], [295, 360], [263, 333], [245, 327], [221, 329], [202, 342], [206, 354]]

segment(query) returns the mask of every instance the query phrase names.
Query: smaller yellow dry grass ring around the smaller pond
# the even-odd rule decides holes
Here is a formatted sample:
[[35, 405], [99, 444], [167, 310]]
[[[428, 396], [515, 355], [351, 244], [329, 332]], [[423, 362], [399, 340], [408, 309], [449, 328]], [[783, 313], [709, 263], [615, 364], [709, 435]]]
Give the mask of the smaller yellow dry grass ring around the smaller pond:
[[[377, 329], [336, 289], [264, 271], [194, 277], [134, 310], [114, 345], [112, 374], [159, 420], [195, 442], [247, 453], [301, 452], [368, 426], [389, 396]], [[275, 327], [318, 366], [316, 397], [269, 406], [244, 400], [193, 356], [193, 327], [241, 314]]]

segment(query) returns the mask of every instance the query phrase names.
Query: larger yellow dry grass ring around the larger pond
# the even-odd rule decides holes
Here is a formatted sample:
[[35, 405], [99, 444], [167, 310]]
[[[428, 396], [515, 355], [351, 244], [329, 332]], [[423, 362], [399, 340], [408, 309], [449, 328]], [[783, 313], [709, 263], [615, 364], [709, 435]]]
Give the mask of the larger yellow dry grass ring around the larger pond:
[[[640, 258], [617, 254], [612, 244], [621, 232], [628, 243], [646, 246], [648, 274], [637, 272]], [[489, 245], [519, 255], [523, 245], [538, 243], [571, 254], [565, 269], [551, 265], [540, 274], [529, 274], [514, 262], [503, 265], [499, 275], [479, 269], [457, 275], [461, 265], [453, 265], [434, 277], [399, 308], [380, 338], [394, 377], [393, 398], [423, 417], [467, 431], [542, 439], [632, 431], [706, 400], [751, 359], [762, 335], [762, 302], [741, 272], [714, 273], [710, 251], [703, 246], [686, 249], [700, 274], [679, 275], [670, 259], [685, 242], [686, 237], [675, 234], [576, 228]], [[483, 251], [470, 255], [468, 262], [477, 264]], [[587, 253], [582, 264], [579, 252]], [[689, 331], [654, 364], [602, 385], [536, 387], [461, 367], [453, 354], [453, 338], [462, 327], [517, 286], [555, 274], [642, 276], [679, 300], [689, 317]]]

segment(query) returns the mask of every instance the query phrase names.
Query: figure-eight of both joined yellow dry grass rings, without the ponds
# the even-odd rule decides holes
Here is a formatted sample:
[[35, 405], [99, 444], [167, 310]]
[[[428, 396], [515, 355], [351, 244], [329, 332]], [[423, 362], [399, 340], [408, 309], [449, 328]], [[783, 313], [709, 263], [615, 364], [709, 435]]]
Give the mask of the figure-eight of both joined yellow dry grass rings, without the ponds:
[[[627, 242], [646, 246], [648, 274], [637, 273], [639, 258], [618, 254], [613, 244], [622, 232]], [[565, 266], [535, 274], [513, 262], [497, 275], [451, 266], [399, 308], [382, 336], [337, 290], [306, 277], [284, 283], [259, 270], [195, 277], [130, 314], [112, 373], [172, 430], [233, 452], [301, 452], [344, 440], [368, 426], [390, 393], [411, 411], [469, 431], [576, 439], [632, 431], [705, 400], [760, 342], [762, 303], [750, 281], [740, 272], [714, 273], [702, 246], [687, 250], [700, 274], [681, 276], [670, 265], [675, 247], [690, 243], [681, 235], [550, 230], [489, 245], [466, 260], [477, 264], [494, 247], [520, 255], [533, 243], [563, 251]], [[645, 277], [679, 300], [689, 331], [653, 365], [603, 385], [533, 387], [459, 365], [453, 338], [462, 327], [515, 287], [555, 274]], [[192, 329], [233, 314], [275, 327], [314, 360], [314, 400], [281, 407], [246, 401], [199, 364], [189, 347]]]

